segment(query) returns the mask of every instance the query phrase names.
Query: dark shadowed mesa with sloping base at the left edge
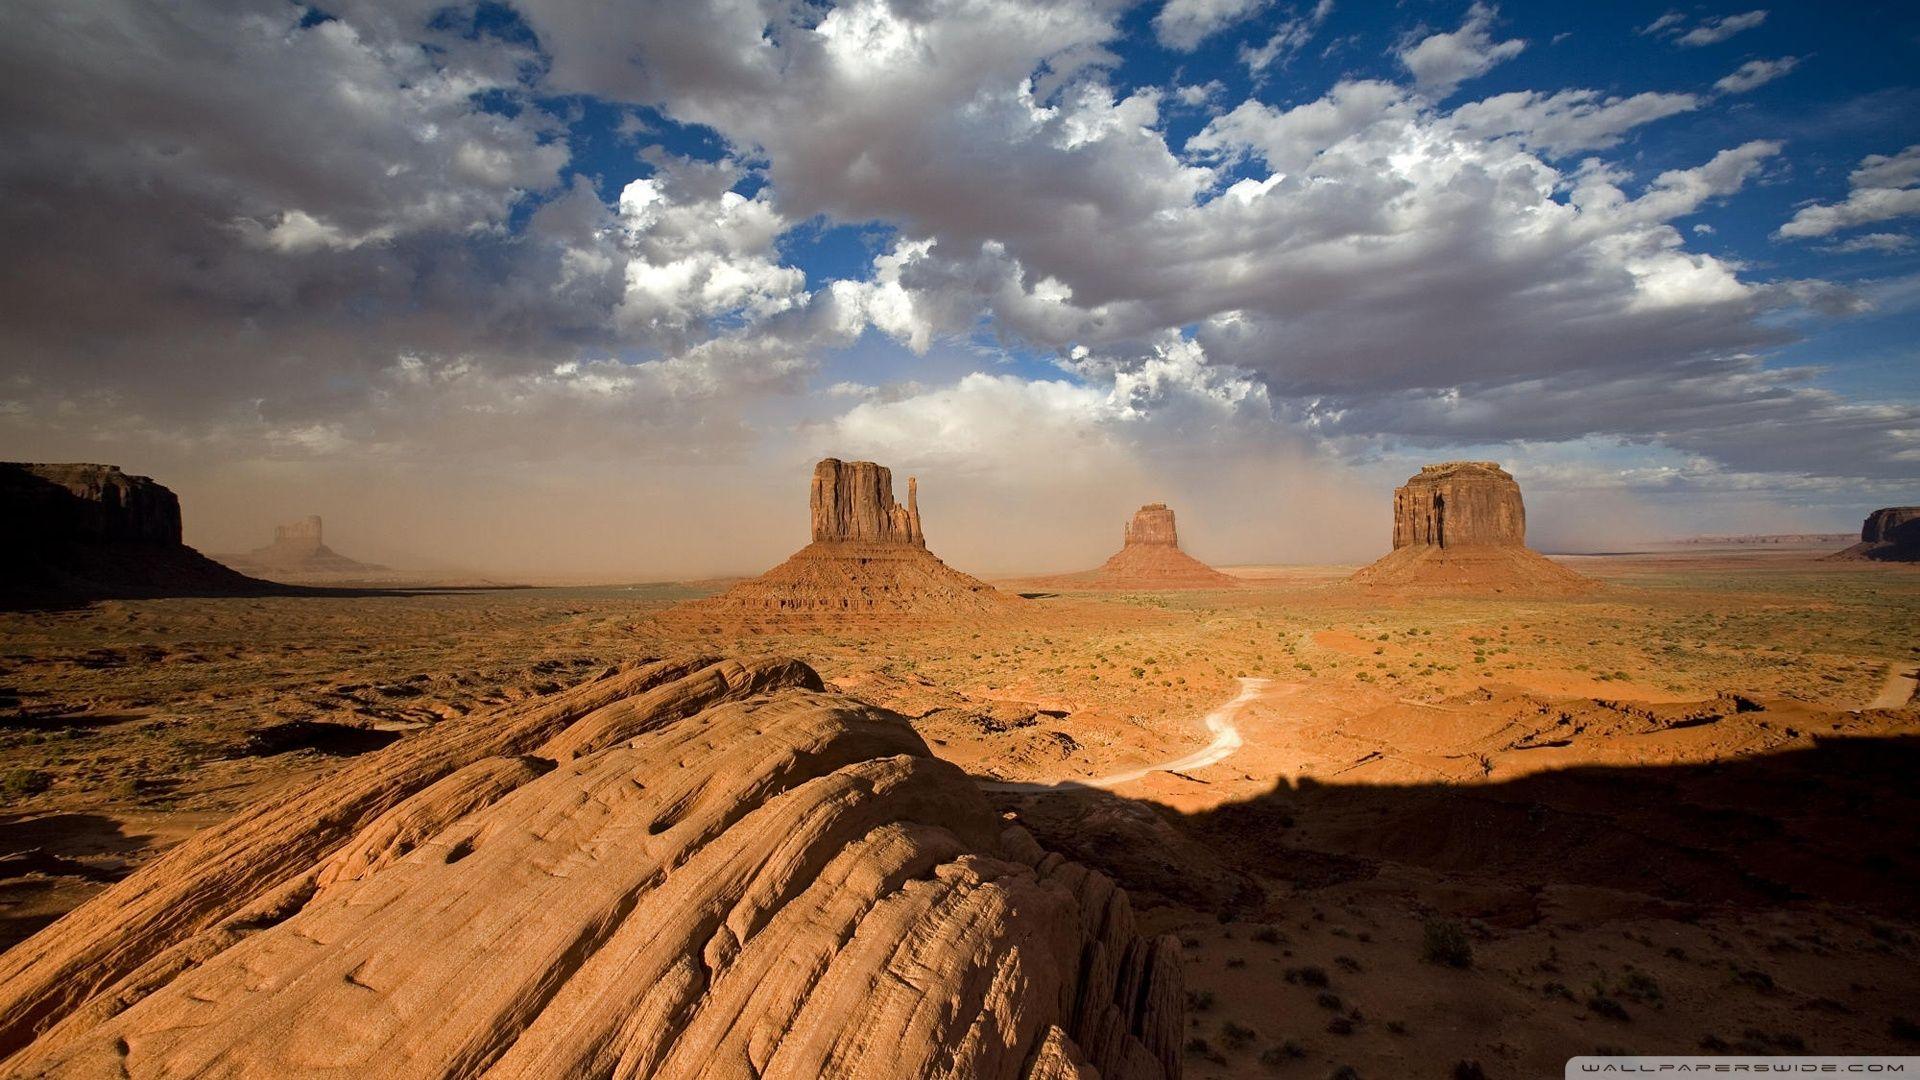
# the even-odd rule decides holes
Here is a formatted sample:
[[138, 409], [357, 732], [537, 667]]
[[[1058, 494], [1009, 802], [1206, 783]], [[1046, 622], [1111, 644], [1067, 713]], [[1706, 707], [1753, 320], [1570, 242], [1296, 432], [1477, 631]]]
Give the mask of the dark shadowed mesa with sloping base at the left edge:
[[257, 596], [278, 586], [180, 542], [180, 500], [117, 465], [0, 463], [0, 600]]

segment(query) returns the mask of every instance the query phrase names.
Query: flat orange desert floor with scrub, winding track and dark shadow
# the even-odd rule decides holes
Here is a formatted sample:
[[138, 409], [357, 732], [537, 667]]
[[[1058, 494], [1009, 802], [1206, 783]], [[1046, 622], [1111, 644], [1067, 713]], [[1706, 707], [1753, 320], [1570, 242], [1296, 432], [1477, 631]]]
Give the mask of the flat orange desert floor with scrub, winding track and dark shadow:
[[1231, 567], [858, 632], [655, 619], [712, 586], [0, 613], [0, 947], [409, 730], [620, 659], [787, 653], [1181, 936], [1190, 1076], [1920, 1053], [1920, 573], [1565, 563], [1607, 588]]

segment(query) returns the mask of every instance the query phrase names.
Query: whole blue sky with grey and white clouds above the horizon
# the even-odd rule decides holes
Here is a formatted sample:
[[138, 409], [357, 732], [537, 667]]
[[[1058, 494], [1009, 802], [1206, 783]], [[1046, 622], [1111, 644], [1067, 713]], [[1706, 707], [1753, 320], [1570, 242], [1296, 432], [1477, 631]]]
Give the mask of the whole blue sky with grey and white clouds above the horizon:
[[822, 455], [977, 573], [1920, 502], [1920, 8], [12, 0], [0, 457], [186, 538], [751, 573]]

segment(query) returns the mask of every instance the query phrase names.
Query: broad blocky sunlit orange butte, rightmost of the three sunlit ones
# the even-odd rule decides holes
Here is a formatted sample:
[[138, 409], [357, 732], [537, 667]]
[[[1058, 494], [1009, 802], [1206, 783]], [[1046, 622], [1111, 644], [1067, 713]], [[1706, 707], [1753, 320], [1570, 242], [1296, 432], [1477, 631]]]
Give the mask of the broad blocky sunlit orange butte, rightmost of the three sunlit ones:
[[1596, 588], [1526, 546], [1521, 484], [1492, 461], [1425, 465], [1396, 488], [1394, 550], [1354, 582], [1440, 592]]

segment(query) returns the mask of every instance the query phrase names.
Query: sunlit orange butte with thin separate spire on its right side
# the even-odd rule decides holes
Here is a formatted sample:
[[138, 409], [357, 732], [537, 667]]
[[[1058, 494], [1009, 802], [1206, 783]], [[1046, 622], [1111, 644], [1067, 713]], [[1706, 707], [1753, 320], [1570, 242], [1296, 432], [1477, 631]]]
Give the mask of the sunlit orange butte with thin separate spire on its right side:
[[906, 505], [899, 505], [887, 467], [828, 457], [814, 465], [812, 544], [720, 596], [680, 605], [672, 617], [837, 621], [987, 615], [1018, 607], [1020, 598], [927, 552], [918, 496], [908, 477]]

